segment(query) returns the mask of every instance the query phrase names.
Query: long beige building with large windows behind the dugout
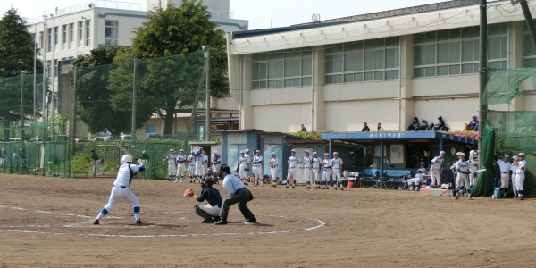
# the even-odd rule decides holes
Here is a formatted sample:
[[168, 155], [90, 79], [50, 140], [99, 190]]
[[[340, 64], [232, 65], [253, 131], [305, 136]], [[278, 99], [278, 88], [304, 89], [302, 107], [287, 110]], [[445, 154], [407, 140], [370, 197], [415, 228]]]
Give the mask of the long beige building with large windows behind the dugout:
[[[536, 66], [519, 4], [489, 2], [487, 15], [489, 67]], [[442, 116], [461, 130], [479, 112], [479, 24], [479, 1], [456, 0], [229, 34], [240, 129], [405, 130], [414, 116]]]

